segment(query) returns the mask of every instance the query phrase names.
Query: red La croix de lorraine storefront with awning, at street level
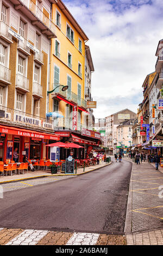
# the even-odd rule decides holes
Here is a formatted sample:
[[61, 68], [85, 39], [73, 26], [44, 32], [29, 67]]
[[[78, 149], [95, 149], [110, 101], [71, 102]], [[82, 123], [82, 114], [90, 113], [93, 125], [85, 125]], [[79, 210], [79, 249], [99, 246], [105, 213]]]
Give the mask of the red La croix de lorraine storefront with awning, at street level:
[[49, 141], [56, 142], [60, 140], [59, 136], [52, 133], [37, 132], [33, 130], [21, 129], [12, 126], [0, 125], [0, 159], [13, 159], [16, 149], [19, 162], [22, 162], [24, 153], [28, 159], [42, 159], [47, 155], [46, 144]]

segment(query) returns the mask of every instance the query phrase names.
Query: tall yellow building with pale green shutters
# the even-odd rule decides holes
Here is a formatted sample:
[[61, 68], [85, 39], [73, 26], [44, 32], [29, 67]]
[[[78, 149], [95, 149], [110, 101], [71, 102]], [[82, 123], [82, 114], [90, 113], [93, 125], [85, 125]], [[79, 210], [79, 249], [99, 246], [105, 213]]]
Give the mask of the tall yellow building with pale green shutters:
[[[57, 38], [51, 40], [49, 112], [59, 113], [62, 116], [54, 118], [54, 130], [82, 131], [84, 113], [86, 113], [84, 62], [85, 41], [88, 38], [60, 0], [52, 5], [52, 21], [57, 27]], [[68, 89], [63, 92], [63, 87], [60, 85], [68, 86]], [[72, 120], [73, 106], [78, 106], [77, 127]]]

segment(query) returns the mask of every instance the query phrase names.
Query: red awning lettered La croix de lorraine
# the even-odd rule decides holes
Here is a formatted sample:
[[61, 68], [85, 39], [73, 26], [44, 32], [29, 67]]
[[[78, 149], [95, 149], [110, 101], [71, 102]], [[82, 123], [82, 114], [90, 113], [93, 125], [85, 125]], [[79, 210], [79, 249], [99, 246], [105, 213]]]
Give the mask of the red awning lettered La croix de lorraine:
[[54, 141], [60, 140], [59, 136], [53, 135], [51, 133], [36, 132], [33, 130], [21, 129], [21, 128], [16, 128], [12, 126], [0, 125], [0, 133], [12, 134], [12, 135], [18, 135], [18, 136], [30, 137], [30, 138], [53, 139]]

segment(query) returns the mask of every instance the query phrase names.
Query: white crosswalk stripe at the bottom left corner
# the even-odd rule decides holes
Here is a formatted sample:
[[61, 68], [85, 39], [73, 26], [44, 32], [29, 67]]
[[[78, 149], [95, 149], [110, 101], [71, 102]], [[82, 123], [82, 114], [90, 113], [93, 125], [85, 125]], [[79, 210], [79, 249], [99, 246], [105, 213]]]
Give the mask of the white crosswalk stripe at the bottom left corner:
[[47, 233], [48, 231], [45, 230], [26, 229], [6, 245], [35, 245]]

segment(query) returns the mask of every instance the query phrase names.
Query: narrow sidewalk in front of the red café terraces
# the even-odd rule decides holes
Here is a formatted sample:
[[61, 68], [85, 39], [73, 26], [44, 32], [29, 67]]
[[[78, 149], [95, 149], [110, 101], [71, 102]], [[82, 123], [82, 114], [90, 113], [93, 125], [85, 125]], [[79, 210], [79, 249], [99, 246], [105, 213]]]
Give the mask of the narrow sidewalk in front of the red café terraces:
[[[109, 163], [111, 164], [111, 162]], [[27, 179], [36, 179], [36, 178], [43, 178], [46, 176], [68, 176], [68, 175], [81, 175], [87, 172], [92, 172], [93, 170], [105, 167], [109, 165], [106, 162], [102, 162], [102, 164], [96, 164], [95, 166], [90, 166], [90, 167], [85, 167], [84, 168], [79, 168], [77, 169], [77, 174], [76, 170], [74, 170], [74, 174], [65, 174], [65, 173], [60, 173], [58, 172], [57, 174], [51, 174], [51, 170], [35, 170], [35, 172], [31, 172], [30, 170], [28, 173], [24, 174], [13, 174], [13, 175], [8, 175], [8, 176], [0, 176], [0, 184], [3, 184], [4, 182], [13, 182], [13, 181], [19, 181], [19, 180], [27, 180]]]

